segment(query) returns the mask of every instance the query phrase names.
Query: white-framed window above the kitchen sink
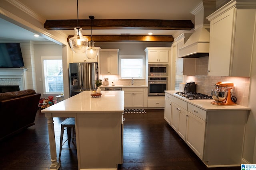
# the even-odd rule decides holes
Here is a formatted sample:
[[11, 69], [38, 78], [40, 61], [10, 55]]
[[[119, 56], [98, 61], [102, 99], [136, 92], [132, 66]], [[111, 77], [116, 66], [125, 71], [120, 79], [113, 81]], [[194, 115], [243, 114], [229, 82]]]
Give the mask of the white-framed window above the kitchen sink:
[[120, 55], [119, 66], [121, 79], [145, 77], [144, 55]]

